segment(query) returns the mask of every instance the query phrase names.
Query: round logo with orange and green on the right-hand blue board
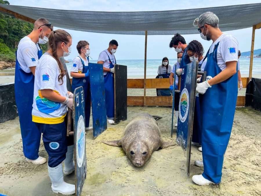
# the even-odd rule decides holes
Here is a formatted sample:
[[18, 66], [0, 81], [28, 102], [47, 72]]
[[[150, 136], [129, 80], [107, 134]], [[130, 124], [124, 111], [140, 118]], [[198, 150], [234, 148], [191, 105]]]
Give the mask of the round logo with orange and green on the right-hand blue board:
[[189, 92], [186, 88], [180, 93], [179, 118], [182, 123], [186, 121], [189, 113]]

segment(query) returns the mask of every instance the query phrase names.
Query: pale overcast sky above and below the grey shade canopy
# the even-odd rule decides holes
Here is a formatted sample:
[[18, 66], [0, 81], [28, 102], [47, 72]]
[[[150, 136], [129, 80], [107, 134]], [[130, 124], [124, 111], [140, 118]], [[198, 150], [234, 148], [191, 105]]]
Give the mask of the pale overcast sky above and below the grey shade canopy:
[[[64, 10], [86, 10], [86, 11], [162, 11], [162, 10], [181, 10], [204, 7], [231, 6], [240, 4], [260, 3], [260, 0], [202, 0], [202, 1], [176, 1], [176, 0], [8, 0], [11, 5], [29, 6], [39, 8], [52, 8]], [[163, 3], [164, 2], [164, 3]], [[199, 13], [200, 15], [201, 13]], [[258, 16], [257, 16], [258, 17]], [[259, 16], [260, 17], [260, 16]], [[79, 16], [81, 20], [81, 16]], [[240, 20], [240, 18], [239, 18]], [[50, 21], [52, 22], [52, 21]], [[84, 21], [82, 21], [84, 23]], [[192, 23], [193, 21], [191, 21]], [[57, 28], [55, 28], [57, 29]], [[65, 29], [66, 30], [66, 29]], [[90, 43], [90, 56], [97, 60], [99, 53], [108, 48], [111, 39], [116, 39], [119, 43], [116, 59], [144, 59], [144, 35], [115, 35], [103, 33], [89, 33], [75, 30], [66, 30], [73, 37], [72, 53], [67, 59], [73, 59], [78, 55], [76, 45], [79, 40], [86, 40]], [[234, 35], [239, 42], [241, 52], [250, 51], [252, 28], [227, 31], [226, 33]], [[162, 59], [163, 57], [176, 58], [177, 53], [174, 48], [168, 47], [173, 35], [149, 35], [147, 45], [147, 59]], [[186, 42], [196, 39], [200, 41], [205, 49], [205, 53], [211, 45], [211, 41], [201, 39], [200, 34], [183, 35]], [[261, 29], [255, 31], [255, 47], [261, 48]]]

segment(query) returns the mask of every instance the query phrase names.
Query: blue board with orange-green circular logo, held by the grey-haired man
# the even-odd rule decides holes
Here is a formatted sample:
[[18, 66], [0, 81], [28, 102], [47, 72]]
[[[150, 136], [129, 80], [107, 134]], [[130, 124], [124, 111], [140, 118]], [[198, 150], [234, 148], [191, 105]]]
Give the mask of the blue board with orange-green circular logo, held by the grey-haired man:
[[195, 107], [195, 94], [197, 82], [197, 62], [186, 64], [182, 69], [179, 118], [177, 127], [176, 142], [181, 148], [187, 151], [187, 175], [189, 176], [191, 139]]

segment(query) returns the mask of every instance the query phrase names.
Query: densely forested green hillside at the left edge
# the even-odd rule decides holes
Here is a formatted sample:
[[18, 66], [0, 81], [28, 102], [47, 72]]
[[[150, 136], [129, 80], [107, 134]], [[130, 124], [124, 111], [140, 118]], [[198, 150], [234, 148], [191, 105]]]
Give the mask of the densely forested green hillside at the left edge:
[[[9, 5], [8, 1], [0, 0], [0, 3]], [[31, 33], [33, 27], [29, 22], [0, 13], [0, 61], [15, 61], [15, 51], [19, 41]], [[40, 45], [42, 50], [47, 50], [48, 44]]]

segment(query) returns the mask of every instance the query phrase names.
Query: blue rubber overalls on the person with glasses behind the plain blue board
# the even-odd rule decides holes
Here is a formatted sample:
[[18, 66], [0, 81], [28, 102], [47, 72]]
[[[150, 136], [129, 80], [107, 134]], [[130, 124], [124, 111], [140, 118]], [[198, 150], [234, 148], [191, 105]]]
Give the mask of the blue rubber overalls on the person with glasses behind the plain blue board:
[[[79, 57], [79, 56], [78, 56]], [[79, 57], [81, 59], [81, 57]], [[89, 57], [86, 57], [89, 62]], [[83, 65], [81, 73], [87, 73], [89, 71], [89, 66], [84, 65], [84, 61], [81, 59]], [[77, 87], [82, 86], [84, 89], [84, 103], [85, 103], [85, 127], [89, 127], [90, 123], [90, 103], [91, 103], [91, 94], [90, 94], [90, 77], [83, 78], [73, 78], [72, 81], [72, 90]]]

